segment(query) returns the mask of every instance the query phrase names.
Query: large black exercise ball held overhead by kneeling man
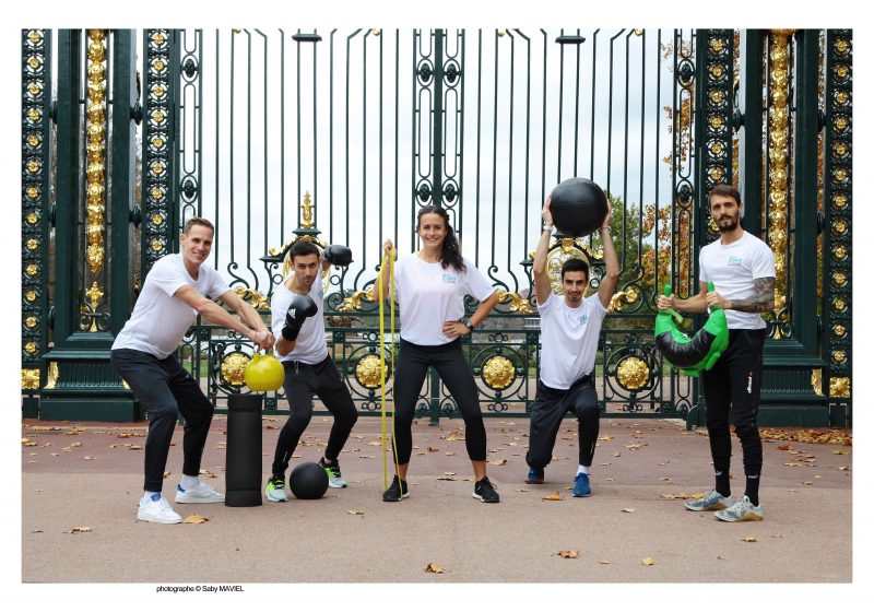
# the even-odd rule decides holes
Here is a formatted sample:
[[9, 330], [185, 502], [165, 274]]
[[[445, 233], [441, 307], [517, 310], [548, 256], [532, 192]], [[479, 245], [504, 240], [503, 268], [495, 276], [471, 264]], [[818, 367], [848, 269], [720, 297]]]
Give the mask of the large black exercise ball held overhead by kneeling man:
[[550, 195], [555, 227], [566, 236], [588, 236], [607, 216], [607, 197], [588, 178], [568, 178]]

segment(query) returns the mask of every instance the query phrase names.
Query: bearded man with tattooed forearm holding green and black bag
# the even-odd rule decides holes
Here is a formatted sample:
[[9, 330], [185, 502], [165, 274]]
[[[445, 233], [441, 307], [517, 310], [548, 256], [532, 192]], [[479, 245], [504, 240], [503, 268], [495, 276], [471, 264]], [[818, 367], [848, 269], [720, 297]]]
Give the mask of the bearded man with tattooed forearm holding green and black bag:
[[[700, 293], [688, 299], [662, 295], [658, 304], [660, 309], [687, 313], [705, 313], [710, 306], [719, 306], [725, 310], [729, 323], [728, 349], [710, 370], [701, 373], [716, 486], [702, 498], [687, 502], [686, 508], [717, 510], [718, 519], [730, 522], [761, 520], [761, 439], [756, 417], [766, 336], [761, 314], [773, 309], [773, 252], [741, 226], [743, 204], [734, 187], [718, 185], [707, 202], [722, 237], [704, 247], [698, 257]], [[716, 290], [708, 293], [709, 281]], [[730, 422], [741, 439], [746, 475], [746, 489], [737, 502], [731, 496], [729, 480]]]

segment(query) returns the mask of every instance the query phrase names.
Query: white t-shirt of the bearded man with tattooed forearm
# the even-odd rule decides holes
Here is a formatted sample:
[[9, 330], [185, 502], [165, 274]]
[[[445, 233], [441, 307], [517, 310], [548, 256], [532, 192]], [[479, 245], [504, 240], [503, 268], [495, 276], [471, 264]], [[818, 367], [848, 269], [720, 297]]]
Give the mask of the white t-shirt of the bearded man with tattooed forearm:
[[[710, 243], [698, 256], [698, 278], [702, 283], [713, 281], [717, 292], [727, 299], [751, 299], [756, 296], [754, 279], [776, 278], [773, 251], [753, 234], [744, 232], [740, 240], [723, 245]], [[758, 313], [725, 310], [729, 329], [763, 329], [765, 320]]]

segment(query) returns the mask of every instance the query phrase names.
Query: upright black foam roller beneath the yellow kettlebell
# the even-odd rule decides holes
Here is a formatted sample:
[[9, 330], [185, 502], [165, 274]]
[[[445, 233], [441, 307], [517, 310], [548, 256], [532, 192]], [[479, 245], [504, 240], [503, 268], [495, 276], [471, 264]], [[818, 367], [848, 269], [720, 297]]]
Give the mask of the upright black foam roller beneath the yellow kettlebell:
[[261, 505], [261, 393], [227, 398], [225, 506]]

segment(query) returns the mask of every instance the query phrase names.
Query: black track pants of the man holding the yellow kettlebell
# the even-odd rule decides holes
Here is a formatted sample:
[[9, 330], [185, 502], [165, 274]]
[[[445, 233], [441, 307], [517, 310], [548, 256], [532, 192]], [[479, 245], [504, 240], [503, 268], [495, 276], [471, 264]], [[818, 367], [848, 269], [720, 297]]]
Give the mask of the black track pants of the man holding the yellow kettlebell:
[[143, 351], [116, 349], [110, 362], [149, 414], [143, 491], [161, 491], [179, 413], [185, 419], [182, 473], [198, 475], [213, 413], [200, 386], [173, 355], [158, 360]]

